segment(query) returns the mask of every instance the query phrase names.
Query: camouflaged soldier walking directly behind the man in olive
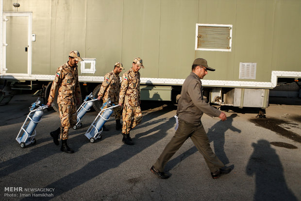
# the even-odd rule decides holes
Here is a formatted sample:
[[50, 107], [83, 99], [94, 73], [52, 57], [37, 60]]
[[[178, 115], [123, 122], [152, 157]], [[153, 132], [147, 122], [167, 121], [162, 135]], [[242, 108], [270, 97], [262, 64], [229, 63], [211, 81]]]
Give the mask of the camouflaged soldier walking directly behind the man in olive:
[[119, 105], [123, 106], [122, 112], [122, 142], [127, 145], [134, 145], [130, 137], [130, 130], [137, 126], [142, 120], [140, 108], [140, 68], [142, 59], [135, 58], [132, 68], [122, 75], [122, 83], [119, 93]]

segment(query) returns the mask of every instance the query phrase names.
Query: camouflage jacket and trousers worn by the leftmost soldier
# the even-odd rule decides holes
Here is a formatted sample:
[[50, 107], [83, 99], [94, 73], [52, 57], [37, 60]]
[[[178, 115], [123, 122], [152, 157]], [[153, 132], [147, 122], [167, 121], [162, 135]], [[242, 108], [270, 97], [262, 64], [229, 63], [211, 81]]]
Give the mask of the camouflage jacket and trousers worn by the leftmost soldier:
[[55, 92], [58, 88], [57, 103], [59, 104], [59, 113], [61, 118], [62, 140], [68, 139], [69, 128], [76, 124], [77, 98], [81, 99], [81, 89], [78, 81], [77, 66], [70, 67], [68, 62], [59, 67], [53, 80], [49, 102], [53, 102]]

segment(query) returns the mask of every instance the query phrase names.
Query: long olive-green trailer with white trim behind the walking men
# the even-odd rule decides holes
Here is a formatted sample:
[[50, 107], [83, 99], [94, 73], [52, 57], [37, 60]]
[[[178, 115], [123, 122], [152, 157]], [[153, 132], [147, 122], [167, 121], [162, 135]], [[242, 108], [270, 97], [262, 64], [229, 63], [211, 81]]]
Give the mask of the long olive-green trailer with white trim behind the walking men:
[[266, 108], [278, 78], [301, 77], [301, 0], [0, 0], [0, 12], [5, 83], [46, 87], [70, 50], [84, 93], [142, 58], [142, 100], [175, 101], [199, 57], [219, 105]]

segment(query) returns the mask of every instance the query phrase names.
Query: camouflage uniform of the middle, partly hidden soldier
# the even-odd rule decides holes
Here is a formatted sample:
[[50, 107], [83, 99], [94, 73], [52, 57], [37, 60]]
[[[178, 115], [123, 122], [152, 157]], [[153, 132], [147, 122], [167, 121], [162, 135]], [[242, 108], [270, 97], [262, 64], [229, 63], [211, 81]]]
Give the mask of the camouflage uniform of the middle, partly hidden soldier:
[[[100, 91], [98, 92], [98, 96], [103, 102], [108, 101], [110, 99], [111, 103], [117, 105], [119, 99], [119, 90], [120, 90], [120, 78], [119, 74], [115, 74], [114, 70], [104, 75], [104, 81], [100, 86]], [[107, 108], [104, 107], [104, 108]], [[104, 109], [103, 108], [103, 109]], [[115, 119], [120, 120], [121, 116], [121, 108], [114, 107]]]

